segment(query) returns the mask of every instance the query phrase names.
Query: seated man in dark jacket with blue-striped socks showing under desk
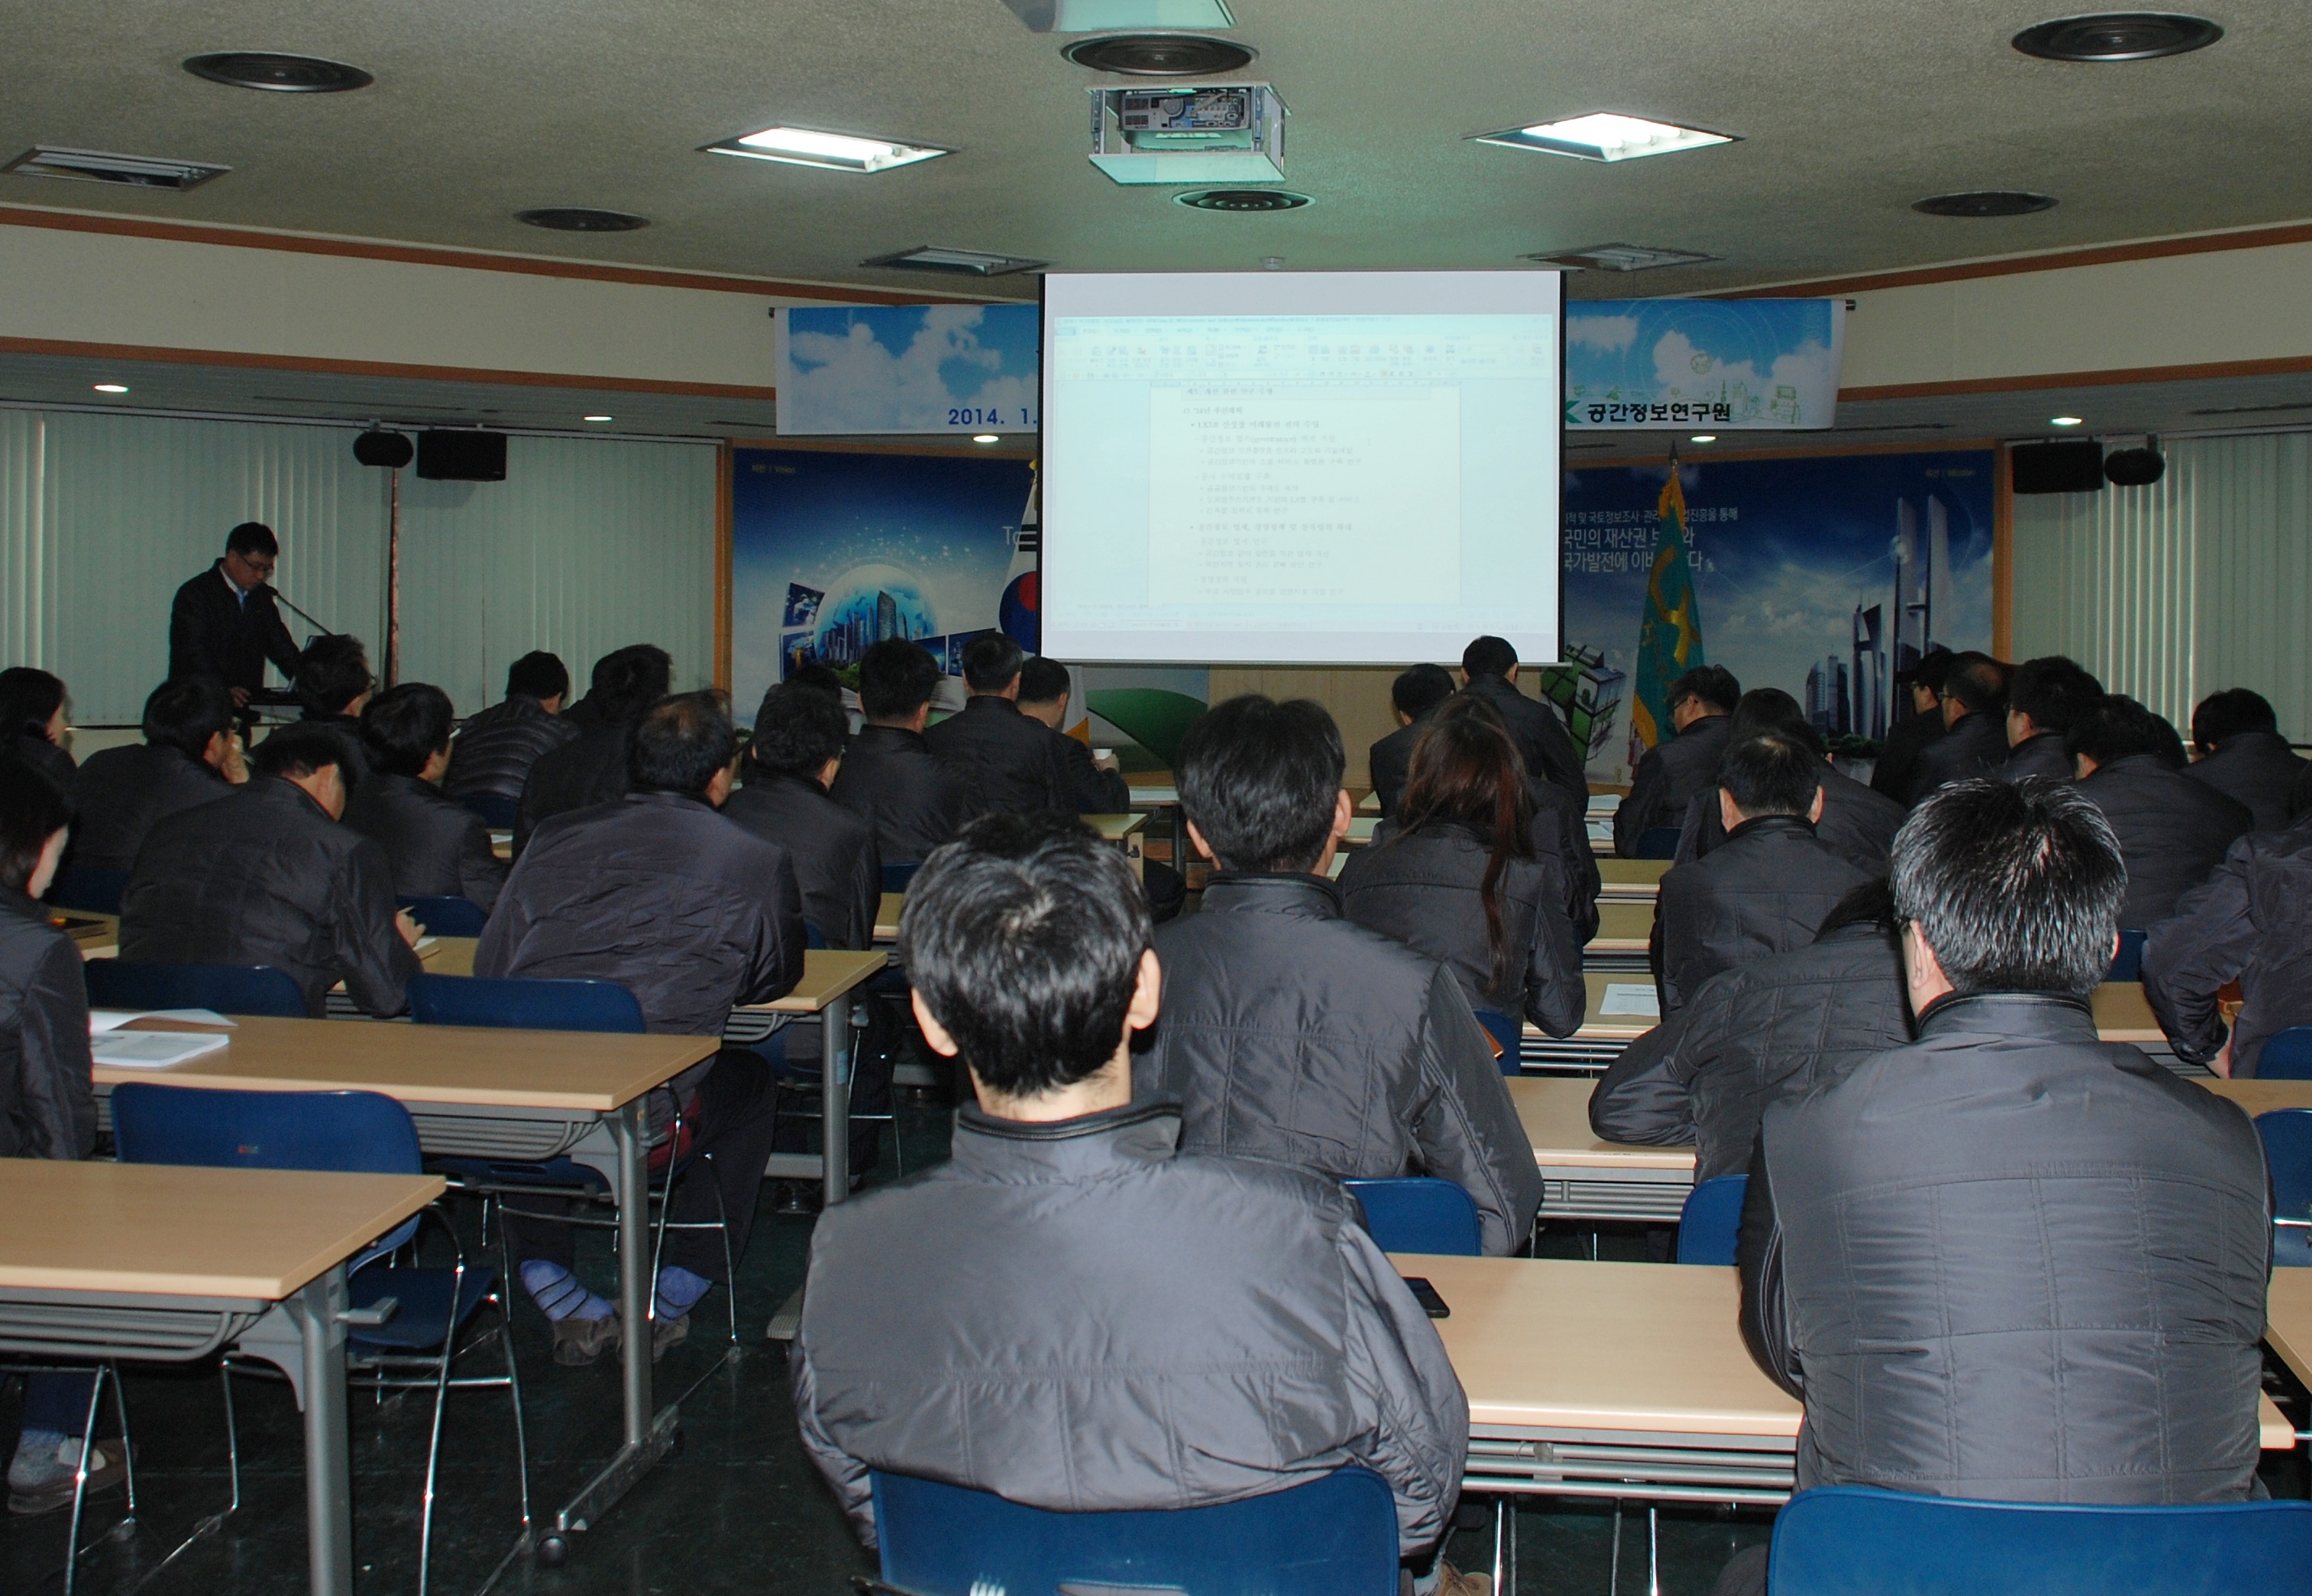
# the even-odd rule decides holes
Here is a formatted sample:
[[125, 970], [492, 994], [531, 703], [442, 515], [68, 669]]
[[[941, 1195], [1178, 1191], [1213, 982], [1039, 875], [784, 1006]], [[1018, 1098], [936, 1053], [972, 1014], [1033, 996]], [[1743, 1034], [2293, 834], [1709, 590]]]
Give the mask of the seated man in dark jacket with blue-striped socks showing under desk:
[[[670, 1036], [721, 1036], [735, 1004], [786, 997], [802, 978], [802, 893], [786, 849], [717, 814], [735, 756], [738, 733], [717, 694], [682, 694], [643, 715], [627, 793], [539, 826], [481, 934], [474, 974], [615, 981], [633, 992], [647, 1027]], [[673, 1094], [691, 1150], [714, 1154], [675, 1184], [673, 1219], [726, 1214], [740, 1258], [777, 1129], [770, 1069], [747, 1048], [724, 1048], [675, 1076]], [[654, 1133], [666, 1129], [664, 1096], [652, 1094]], [[553, 1321], [555, 1362], [594, 1362], [617, 1346], [617, 1309], [571, 1274], [566, 1224], [509, 1214], [506, 1244]], [[712, 1228], [675, 1231], [666, 1258], [652, 1355], [689, 1335], [691, 1307], [724, 1279]]]

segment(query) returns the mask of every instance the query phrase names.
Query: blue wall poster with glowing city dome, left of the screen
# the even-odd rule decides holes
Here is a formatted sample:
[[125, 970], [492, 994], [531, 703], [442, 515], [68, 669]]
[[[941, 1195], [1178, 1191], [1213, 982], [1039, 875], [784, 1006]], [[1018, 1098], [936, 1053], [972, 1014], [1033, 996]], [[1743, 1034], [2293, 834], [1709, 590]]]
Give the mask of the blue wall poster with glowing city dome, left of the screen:
[[[853, 682], [883, 638], [946, 675], [996, 627], [1036, 648], [1027, 460], [738, 449], [731, 481], [731, 696], [742, 722], [802, 664]], [[948, 696], [959, 699], [959, 692]]]

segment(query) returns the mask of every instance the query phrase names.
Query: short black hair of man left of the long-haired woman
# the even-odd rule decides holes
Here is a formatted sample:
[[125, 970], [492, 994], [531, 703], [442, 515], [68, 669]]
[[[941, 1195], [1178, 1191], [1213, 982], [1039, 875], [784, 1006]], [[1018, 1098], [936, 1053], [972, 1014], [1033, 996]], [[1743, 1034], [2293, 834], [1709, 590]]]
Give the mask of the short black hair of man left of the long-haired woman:
[[1244, 694], [1179, 742], [1179, 805], [1221, 870], [1311, 870], [1341, 793], [1341, 729], [1311, 699]]

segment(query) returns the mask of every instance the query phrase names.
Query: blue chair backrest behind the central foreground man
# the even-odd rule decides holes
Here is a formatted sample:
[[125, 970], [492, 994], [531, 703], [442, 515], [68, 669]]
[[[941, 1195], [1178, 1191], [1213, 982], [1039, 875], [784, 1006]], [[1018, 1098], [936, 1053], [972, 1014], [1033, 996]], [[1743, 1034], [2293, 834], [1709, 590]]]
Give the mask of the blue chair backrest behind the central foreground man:
[[992, 1492], [874, 1476], [883, 1580], [920, 1596], [1064, 1587], [1392, 1596], [1396, 1510], [1378, 1473], [1339, 1469], [1209, 1508], [1050, 1513]]

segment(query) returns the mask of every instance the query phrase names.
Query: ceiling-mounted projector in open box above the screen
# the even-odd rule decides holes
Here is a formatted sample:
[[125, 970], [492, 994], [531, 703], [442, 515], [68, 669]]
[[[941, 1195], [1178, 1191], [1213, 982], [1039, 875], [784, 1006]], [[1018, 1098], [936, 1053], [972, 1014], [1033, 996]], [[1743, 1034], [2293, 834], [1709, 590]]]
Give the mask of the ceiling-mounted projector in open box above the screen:
[[1267, 83], [1091, 90], [1091, 164], [1117, 183], [1283, 183], [1285, 102]]

